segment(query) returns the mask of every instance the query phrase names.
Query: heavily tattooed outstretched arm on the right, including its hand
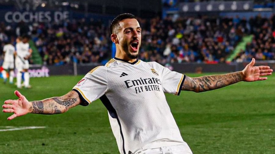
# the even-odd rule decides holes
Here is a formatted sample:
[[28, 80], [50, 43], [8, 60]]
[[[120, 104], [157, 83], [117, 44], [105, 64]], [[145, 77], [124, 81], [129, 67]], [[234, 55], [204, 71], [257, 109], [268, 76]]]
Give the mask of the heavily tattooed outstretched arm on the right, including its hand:
[[197, 78], [185, 77], [182, 90], [204, 92], [219, 89], [240, 81], [252, 82], [266, 80], [266, 75], [271, 75], [273, 70], [269, 66], [254, 66], [255, 59], [240, 72], [228, 73], [224, 75], [210, 75]]

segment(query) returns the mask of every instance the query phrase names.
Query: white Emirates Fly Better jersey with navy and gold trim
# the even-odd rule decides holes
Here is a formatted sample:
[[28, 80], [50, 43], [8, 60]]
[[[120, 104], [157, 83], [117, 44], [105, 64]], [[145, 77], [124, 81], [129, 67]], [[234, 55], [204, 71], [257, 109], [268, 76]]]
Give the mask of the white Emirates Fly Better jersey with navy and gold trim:
[[185, 75], [156, 62], [113, 58], [73, 88], [84, 104], [100, 98], [121, 154], [185, 143], [164, 93], [179, 95]]

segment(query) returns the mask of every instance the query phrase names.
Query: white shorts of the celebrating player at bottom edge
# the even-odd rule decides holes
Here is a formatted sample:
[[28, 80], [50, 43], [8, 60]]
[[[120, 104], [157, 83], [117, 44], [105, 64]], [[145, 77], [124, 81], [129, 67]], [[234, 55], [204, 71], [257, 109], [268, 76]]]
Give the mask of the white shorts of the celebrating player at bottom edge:
[[193, 154], [187, 143], [166, 146], [161, 148], [146, 149], [135, 154]]

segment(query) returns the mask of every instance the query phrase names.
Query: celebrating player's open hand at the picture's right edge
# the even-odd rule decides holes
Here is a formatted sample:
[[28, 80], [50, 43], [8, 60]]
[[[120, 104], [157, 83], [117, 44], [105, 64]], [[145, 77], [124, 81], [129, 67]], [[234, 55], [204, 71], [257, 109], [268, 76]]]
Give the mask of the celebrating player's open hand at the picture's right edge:
[[262, 77], [266, 75], [271, 75], [273, 70], [270, 69], [269, 66], [254, 66], [255, 59], [252, 58], [252, 61], [246, 65], [244, 70], [242, 71], [244, 74], [244, 81], [252, 82], [252, 81], [261, 81], [266, 80], [267, 77]]

